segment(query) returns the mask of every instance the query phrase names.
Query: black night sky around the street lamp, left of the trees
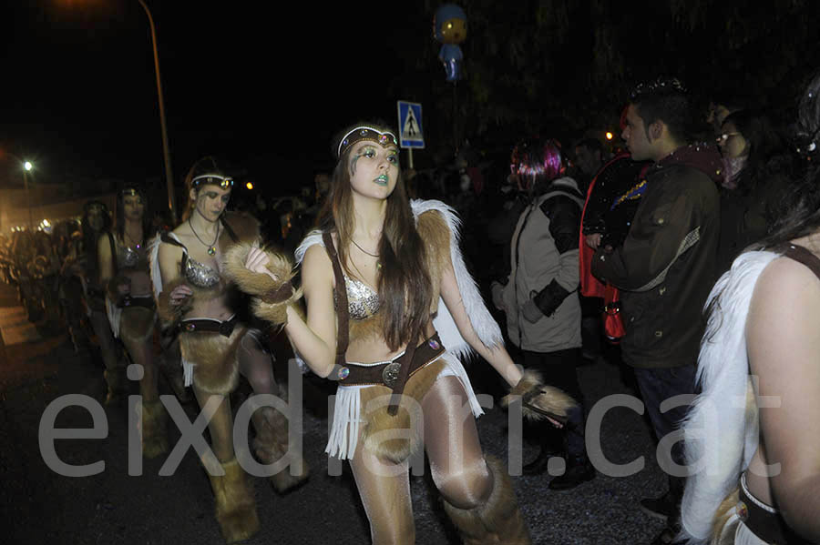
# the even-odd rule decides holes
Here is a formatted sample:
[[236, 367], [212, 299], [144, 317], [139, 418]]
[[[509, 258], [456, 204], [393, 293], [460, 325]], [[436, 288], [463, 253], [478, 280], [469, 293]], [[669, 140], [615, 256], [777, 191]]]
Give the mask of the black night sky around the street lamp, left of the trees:
[[[34, 157], [41, 172], [160, 176], [149, 24], [138, 2], [14, 4], [0, 18], [0, 146]], [[148, 4], [178, 180], [194, 160], [217, 154], [261, 168], [272, 185], [311, 183], [332, 167], [330, 140], [341, 126], [373, 116], [395, 124], [397, 97], [385, 89], [402, 70], [393, 53], [400, 33], [382, 7]], [[433, 41], [423, 11], [413, 26]]]

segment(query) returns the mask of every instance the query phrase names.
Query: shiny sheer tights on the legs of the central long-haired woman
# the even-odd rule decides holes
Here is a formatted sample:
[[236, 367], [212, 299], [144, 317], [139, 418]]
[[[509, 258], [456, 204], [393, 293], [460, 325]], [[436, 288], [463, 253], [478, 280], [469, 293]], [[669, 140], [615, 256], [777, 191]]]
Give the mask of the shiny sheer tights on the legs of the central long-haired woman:
[[[460, 509], [481, 505], [492, 491], [492, 476], [461, 381], [438, 378], [421, 406], [425, 451], [436, 488]], [[377, 458], [364, 449], [361, 437], [350, 461], [374, 545], [415, 543], [409, 463]]]

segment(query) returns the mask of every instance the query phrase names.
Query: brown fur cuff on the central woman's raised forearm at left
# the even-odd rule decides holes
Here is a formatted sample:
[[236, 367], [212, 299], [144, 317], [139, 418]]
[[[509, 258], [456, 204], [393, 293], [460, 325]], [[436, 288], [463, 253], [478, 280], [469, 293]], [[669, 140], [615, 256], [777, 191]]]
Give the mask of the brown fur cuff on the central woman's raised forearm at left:
[[225, 253], [222, 273], [230, 278], [241, 291], [253, 296], [251, 311], [274, 325], [287, 323], [287, 308], [302, 298], [302, 289], [294, 290], [291, 280], [293, 264], [284, 254], [266, 250], [268, 270], [276, 280], [264, 273], [251, 272], [245, 268], [245, 259], [251, 251], [250, 244], [237, 244]]

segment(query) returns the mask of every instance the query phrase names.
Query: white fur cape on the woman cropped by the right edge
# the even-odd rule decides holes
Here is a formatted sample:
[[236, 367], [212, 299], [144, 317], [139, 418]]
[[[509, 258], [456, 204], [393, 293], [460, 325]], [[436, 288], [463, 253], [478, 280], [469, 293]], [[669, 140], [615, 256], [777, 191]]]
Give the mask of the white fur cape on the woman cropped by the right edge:
[[690, 545], [712, 538], [716, 511], [757, 449], [757, 407], [744, 333], [757, 278], [777, 257], [771, 251], [741, 254], [706, 301], [712, 312], [698, 356], [702, 393], [682, 425], [686, 463], [695, 471], [682, 502], [682, 537]]

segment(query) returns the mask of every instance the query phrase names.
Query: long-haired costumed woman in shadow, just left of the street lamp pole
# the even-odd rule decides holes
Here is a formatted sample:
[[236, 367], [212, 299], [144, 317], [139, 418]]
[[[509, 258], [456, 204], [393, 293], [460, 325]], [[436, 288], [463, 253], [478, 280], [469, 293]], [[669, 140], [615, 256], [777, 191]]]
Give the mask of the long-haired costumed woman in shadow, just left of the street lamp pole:
[[[97, 259], [111, 331], [122, 341], [131, 362], [141, 366], [142, 454], [156, 458], [168, 450], [168, 415], [159, 400], [154, 360], [157, 308], [149, 273], [148, 242], [152, 234], [147, 207], [148, 197], [142, 187], [128, 185], [118, 192], [115, 225], [97, 240]], [[120, 372], [118, 368], [118, 379], [122, 378]]]

